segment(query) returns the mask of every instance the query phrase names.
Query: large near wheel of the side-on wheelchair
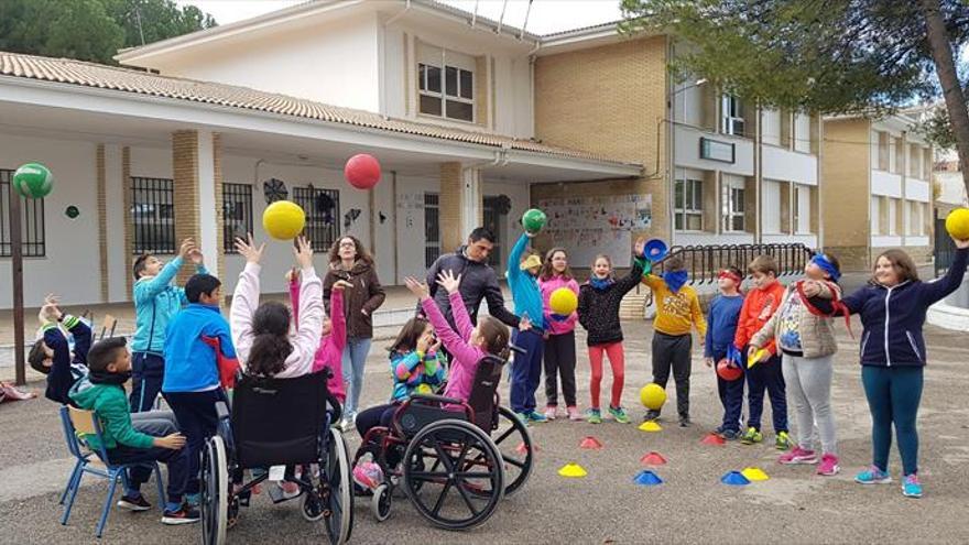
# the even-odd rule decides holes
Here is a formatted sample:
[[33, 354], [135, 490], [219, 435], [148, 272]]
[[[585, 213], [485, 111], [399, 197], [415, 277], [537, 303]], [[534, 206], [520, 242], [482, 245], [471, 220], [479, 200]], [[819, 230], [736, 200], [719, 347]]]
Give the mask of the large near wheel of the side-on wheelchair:
[[[432, 469], [417, 471], [418, 461]], [[407, 445], [404, 468], [404, 489], [414, 509], [445, 530], [483, 523], [504, 495], [501, 454], [488, 434], [465, 421], [439, 421], [421, 429]]]

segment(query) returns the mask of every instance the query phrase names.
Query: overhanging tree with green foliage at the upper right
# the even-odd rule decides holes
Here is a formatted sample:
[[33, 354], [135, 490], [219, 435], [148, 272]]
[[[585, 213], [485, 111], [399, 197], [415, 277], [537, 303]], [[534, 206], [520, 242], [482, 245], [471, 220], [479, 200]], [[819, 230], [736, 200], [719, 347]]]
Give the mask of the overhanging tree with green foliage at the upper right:
[[[625, 33], [695, 46], [671, 63], [764, 107], [882, 116], [945, 97], [969, 190], [969, 111], [952, 48], [969, 40], [961, 0], [622, 0]], [[947, 124], [935, 121], [930, 134]]]

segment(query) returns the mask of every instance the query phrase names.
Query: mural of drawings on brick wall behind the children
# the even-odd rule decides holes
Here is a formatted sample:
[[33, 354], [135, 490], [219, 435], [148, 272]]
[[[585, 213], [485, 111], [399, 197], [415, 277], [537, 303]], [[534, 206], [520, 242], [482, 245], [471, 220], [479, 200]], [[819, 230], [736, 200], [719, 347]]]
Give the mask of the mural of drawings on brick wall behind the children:
[[617, 266], [631, 263], [632, 231], [653, 224], [652, 195], [556, 197], [538, 200], [552, 243], [568, 250], [573, 266], [587, 268], [608, 254]]

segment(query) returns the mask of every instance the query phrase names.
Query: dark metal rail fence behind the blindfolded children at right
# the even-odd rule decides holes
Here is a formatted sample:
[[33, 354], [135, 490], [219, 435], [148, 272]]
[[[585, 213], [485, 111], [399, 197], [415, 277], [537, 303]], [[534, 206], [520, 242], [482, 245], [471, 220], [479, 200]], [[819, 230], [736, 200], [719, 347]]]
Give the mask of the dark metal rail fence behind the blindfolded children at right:
[[683, 260], [689, 271], [690, 284], [716, 284], [719, 272], [725, 268], [732, 265], [745, 273], [747, 265], [754, 258], [767, 254], [777, 262], [777, 276], [785, 277], [804, 272], [814, 253], [802, 243], [674, 246], [663, 261], [654, 263], [653, 271], [662, 274], [666, 260], [675, 255]]

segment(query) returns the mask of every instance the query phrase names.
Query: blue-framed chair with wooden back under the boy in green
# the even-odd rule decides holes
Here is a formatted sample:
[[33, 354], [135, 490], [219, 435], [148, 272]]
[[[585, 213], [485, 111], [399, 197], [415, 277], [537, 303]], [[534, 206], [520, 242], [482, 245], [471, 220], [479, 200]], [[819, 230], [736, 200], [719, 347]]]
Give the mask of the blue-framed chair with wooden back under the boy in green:
[[[64, 516], [61, 517], [61, 524], [67, 524], [67, 519], [70, 516], [70, 508], [74, 506], [74, 499], [77, 497], [77, 489], [80, 488], [80, 480], [84, 475], [95, 475], [110, 481], [110, 484], [108, 486], [108, 497], [105, 499], [105, 506], [101, 510], [101, 519], [98, 521], [97, 536], [100, 537], [105, 532], [105, 524], [108, 522], [108, 513], [111, 511], [111, 503], [115, 499], [115, 489], [118, 487], [118, 481], [120, 480], [127, 486], [128, 469], [138, 466], [143, 467], [145, 464], [122, 464], [115, 466], [107, 461], [108, 455], [104, 447], [98, 450], [91, 450], [88, 448], [87, 445], [79, 439], [80, 435], [94, 435], [99, 439], [98, 444], [105, 444], [104, 440], [101, 440], [101, 425], [92, 412], [65, 405], [61, 407], [61, 421], [64, 424], [64, 435], [67, 440], [67, 449], [70, 450], [70, 454], [77, 460], [67, 481], [67, 488], [61, 497], [62, 504], [64, 503], [65, 497], [67, 498], [67, 505], [64, 508]], [[94, 458], [94, 455], [97, 455], [97, 458]], [[165, 490], [162, 484], [162, 472], [156, 461], [150, 464], [155, 473], [160, 506], [164, 509]]]

